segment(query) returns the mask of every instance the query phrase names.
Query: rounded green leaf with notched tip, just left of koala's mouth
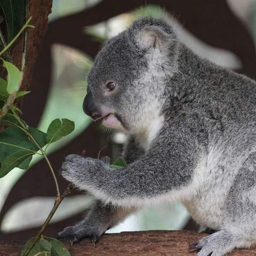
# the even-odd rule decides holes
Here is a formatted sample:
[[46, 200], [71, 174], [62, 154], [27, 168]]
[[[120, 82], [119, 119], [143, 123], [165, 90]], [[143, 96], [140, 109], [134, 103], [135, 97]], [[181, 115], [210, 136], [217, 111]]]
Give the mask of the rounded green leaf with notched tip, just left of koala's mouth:
[[75, 129], [75, 123], [69, 119], [54, 119], [49, 125], [46, 133], [47, 142], [50, 144], [54, 141], [61, 139], [62, 137], [73, 132]]

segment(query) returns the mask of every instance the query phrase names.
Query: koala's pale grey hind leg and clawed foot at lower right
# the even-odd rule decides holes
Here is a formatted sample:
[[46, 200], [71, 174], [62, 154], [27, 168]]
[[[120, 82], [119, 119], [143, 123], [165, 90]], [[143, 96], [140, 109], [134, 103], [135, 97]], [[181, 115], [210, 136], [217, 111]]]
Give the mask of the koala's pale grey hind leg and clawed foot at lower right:
[[256, 245], [256, 153], [239, 170], [230, 189], [222, 230], [201, 239], [193, 246], [198, 256], [222, 256], [235, 248]]

